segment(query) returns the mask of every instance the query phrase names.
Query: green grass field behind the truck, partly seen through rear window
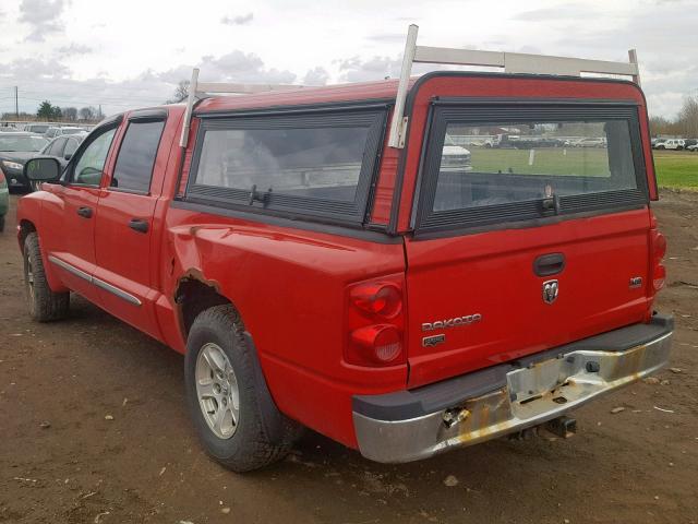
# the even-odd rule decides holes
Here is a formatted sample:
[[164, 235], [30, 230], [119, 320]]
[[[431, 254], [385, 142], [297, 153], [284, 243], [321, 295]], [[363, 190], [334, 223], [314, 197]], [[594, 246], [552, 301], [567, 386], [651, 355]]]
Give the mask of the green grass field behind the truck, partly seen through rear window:
[[[528, 150], [488, 150], [471, 147], [472, 166], [480, 172], [520, 175], [609, 176], [606, 151], [603, 148], [540, 148], [529, 165]], [[654, 151], [654, 167], [660, 188], [698, 191], [698, 153], [687, 151]]]

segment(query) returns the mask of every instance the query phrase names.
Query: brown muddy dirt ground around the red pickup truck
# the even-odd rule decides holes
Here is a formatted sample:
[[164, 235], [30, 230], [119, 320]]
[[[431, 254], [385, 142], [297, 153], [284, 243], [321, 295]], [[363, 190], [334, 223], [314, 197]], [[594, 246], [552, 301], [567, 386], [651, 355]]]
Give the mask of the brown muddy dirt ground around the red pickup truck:
[[568, 440], [381, 465], [309, 431], [244, 476], [198, 446], [180, 355], [80, 297], [67, 321], [29, 321], [13, 196], [0, 235], [0, 522], [696, 523], [698, 193], [662, 196], [659, 309], [676, 315], [679, 372], [579, 409]]

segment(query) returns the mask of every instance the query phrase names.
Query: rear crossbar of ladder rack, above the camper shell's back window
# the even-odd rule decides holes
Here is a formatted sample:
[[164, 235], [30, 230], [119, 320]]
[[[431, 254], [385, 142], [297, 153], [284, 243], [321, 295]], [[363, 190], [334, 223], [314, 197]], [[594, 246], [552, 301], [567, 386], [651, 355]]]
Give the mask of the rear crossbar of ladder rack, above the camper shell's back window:
[[529, 55], [522, 52], [480, 51], [455, 49], [447, 47], [428, 47], [417, 45], [419, 27], [410, 25], [407, 32], [402, 69], [398, 84], [397, 98], [393, 120], [390, 121], [390, 147], [405, 147], [405, 100], [409, 87], [412, 63], [442, 63], [450, 66], [479, 66], [503, 68], [505, 73], [559, 74], [581, 76], [581, 73], [617, 74], [631, 76], [633, 82], [640, 84], [640, 74], [635, 49], [628, 51], [628, 62], [606, 60], [589, 60], [582, 58], [553, 57], [546, 55]]

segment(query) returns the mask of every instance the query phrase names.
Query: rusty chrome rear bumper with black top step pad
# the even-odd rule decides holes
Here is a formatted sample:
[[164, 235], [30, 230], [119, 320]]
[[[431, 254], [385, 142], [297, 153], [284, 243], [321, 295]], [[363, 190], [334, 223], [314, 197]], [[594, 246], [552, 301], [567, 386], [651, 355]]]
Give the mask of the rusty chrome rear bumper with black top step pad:
[[[624, 333], [617, 330], [611, 336], [564, 346], [559, 353], [545, 352], [539, 358], [473, 373], [478, 374], [474, 381], [464, 376], [421, 391], [354, 397], [359, 450], [377, 462], [409, 462], [559, 417], [665, 366], [673, 320], [657, 317], [652, 324], [652, 336], [631, 347], [619, 343]], [[633, 343], [631, 329], [624, 330]], [[636, 342], [638, 329], [631, 333]], [[604, 340], [609, 348], [595, 347], [595, 342]], [[454, 401], [458, 381], [474, 395]], [[423, 413], [430, 405], [438, 408]], [[400, 418], [405, 415], [410, 418]]]

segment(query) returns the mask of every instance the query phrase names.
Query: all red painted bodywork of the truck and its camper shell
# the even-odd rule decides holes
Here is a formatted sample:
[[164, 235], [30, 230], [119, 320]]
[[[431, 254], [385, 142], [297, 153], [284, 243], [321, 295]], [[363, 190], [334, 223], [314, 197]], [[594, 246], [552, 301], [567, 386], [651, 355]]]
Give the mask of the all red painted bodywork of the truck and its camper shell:
[[[216, 97], [202, 102], [195, 114], [393, 99], [396, 91], [397, 82], [386, 81]], [[45, 258], [61, 257], [133, 295], [142, 306], [46, 263], [53, 289], [81, 293], [180, 353], [185, 352], [180, 306], [174, 302], [180, 281], [195, 274], [215, 285], [234, 303], [252, 334], [278, 407], [314, 430], [356, 446], [352, 395], [435, 382], [642, 321], [651, 307], [653, 290], [647, 286], [651, 214], [647, 209], [542, 227], [432, 240], [411, 237], [410, 213], [429, 102], [452, 95], [637, 100], [651, 196], [655, 196], [645, 103], [637, 87], [496, 75], [436, 76], [422, 83], [414, 96], [408, 148], [397, 151], [384, 144], [381, 154], [369, 222], [385, 227], [397, 213], [397, 228], [405, 236], [392, 241], [172, 206], [173, 199], [183, 194], [198, 126], [194, 118], [182, 152], [178, 141], [183, 105], [167, 107], [149, 194], [109, 189], [127, 114], [99, 189], [47, 183], [45, 191], [20, 201], [17, 217], [34, 224]], [[405, 178], [396, 199], [399, 164], [405, 166]], [[82, 205], [96, 207], [89, 224], [75, 214]], [[128, 227], [132, 217], [149, 221], [147, 235]], [[554, 307], [540, 299], [542, 278], [531, 271], [532, 260], [549, 252], [564, 252], [567, 258]], [[409, 364], [348, 365], [344, 361], [348, 286], [387, 275], [405, 282], [404, 346]], [[645, 288], [629, 290], [630, 276], [646, 278]], [[441, 346], [421, 347], [422, 322], [473, 313], [482, 314], [482, 321], [450, 330]]]

